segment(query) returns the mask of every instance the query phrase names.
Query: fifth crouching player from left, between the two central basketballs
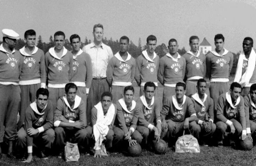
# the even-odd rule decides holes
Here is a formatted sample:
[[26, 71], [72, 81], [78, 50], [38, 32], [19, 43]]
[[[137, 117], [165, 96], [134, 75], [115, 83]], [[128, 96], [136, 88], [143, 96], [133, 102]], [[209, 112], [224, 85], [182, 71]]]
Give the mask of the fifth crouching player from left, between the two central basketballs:
[[146, 82], [144, 85], [144, 95], [139, 99], [141, 109], [137, 130], [143, 137], [141, 144], [144, 147], [148, 147], [147, 143], [154, 139], [158, 141], [161, 134], [160, 103], [154, 97], [155, 88], [156, 86], [153, 82]]

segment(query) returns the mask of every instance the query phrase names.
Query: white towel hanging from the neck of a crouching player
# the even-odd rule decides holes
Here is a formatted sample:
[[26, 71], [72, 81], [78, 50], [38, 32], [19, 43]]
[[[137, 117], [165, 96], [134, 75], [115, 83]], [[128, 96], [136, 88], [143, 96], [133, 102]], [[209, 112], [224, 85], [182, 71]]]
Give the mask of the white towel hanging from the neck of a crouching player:
[[111, 104], [105, 116], [103, 113], [101, 102], [96, 104], [94, 107], [97, 109], [97, 120], [96, 120], [96, 124], [93, 126], [93, 134], [95, 138], [94, 149], [100, 150], [102, 141], [107, 136], [109, 131], [108, 125], [110, 125], [111, 122], [113, 121], [113, 118], [115, 115], [115, 106]]

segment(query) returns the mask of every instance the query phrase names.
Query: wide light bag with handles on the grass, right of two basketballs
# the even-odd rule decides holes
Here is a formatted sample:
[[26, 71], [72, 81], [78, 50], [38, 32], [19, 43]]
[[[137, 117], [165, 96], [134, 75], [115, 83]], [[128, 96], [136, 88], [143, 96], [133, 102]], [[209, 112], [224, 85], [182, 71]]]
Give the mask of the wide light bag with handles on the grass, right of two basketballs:
[[186, 134], [183, 131], [183, 136], [179, 137], [175, 144], [175, 152], [177, 153], [200, 153], [198, 141], [192, 134]]

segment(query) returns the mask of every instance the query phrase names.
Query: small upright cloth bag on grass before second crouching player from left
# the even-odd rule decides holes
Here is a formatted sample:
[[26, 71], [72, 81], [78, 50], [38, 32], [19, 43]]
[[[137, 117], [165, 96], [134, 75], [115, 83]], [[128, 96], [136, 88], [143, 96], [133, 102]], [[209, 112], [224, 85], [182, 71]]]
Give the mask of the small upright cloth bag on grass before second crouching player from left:
[[78, 161], [79, 158], [80, 158], [80, 154], [79, 154], [77, 143], [73, 144], [73, 143], [67, 142], [65, 146], [66, 162]]

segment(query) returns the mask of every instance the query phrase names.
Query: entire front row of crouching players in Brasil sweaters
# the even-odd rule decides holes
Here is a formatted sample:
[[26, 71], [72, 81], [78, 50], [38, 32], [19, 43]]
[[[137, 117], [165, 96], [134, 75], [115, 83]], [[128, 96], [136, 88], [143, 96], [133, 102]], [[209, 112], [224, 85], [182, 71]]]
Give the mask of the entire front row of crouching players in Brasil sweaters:
[[[160, 138], [172, 144], [185, 129], [189, 129], [187, 132], [191, 132], [203, 143], [215, 136], [218, 144], [222, 145], [226, 131], [230, 132], [231, 144], [241, 133], [241, 139], [245, 139], [247, 134], [251, 139], [250, 123], [251, 126], [254, 125], [249, 121], [249, 114], [256, 114], [253, 111], [249, 113], [248, 110], [248, 120], [245, 120], [244, 107], [249, 104], [247, 107], [255, 112], [255, 105], [252, 107], [252, 103], [256, 101], [256, 86], [251, 87], [250, 96], [247, 96], [249, 102], [244, 104], [244, 99], [240, 96], [241, 85], [232, 83], [230, 91], [219, 97], [216, 125], [213, 123], [213, 100], [205, 94], [204, 79], [198, 80], [198, 92], [191, 98], [184, 95], [186, 85], [177, 83], [176, 94], [164, 101], [162, 110], [158, 99], [154, 98], [155, 88], [153, 82], [147, 82], [144, 86], [145, 94], [135, 102], [134, 88], [125, 87], [124, 97], [116, 105], [112, 103], [112, 95], [104, 92], [101, 102], [91, 110], [92, 127], [87, 126], [85, 106], [76, 95], [75, 84], [66, 84], [66, 95], [58, 100], [54, 115], [51, 103], [47, 102], [47, 89], [40, 88], [36, 101], [26, 111], [25, 125], [17, 134], [17, 145], [21, 148], [27, 147], [28, 157], [25, 162], [32, 160], [33, 141], [40, 142], [41, 157], [46, 158], [44, 150], [50, 149], [54, 141], [59, 156], [62, 157], [65, 141], [78, 143], [79, 149], [83, 150], [91, 146], [91, 136], [95, 141], [95, 157], [101, 157], [105, 149], [120, 150], [136, 143], [147, 147], [152, 140]], [[54, 130], [52, 125], [55, 126]]]

